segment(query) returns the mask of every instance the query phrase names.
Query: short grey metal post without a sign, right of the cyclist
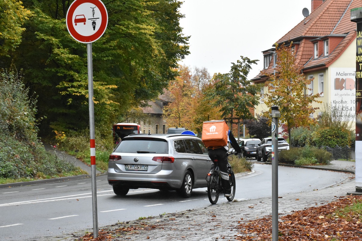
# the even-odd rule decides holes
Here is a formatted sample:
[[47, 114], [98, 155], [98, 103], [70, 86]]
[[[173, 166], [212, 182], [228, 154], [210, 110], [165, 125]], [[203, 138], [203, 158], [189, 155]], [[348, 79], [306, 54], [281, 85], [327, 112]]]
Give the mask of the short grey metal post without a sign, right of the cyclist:
[[278, 241], [278, 106], [271, 107], [271, 238]]

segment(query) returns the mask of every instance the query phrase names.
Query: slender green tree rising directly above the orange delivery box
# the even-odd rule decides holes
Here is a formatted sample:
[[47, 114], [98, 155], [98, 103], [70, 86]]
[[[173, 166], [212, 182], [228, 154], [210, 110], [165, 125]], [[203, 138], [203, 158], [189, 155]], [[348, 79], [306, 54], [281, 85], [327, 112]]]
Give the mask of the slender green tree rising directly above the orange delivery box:
[[214, 107], [221, 107], [222, 117], [231, 120], [233, 117], [243, 120], [253, 118], [251, 109], [259, 104], [257, 94], [261, 86], [254, 85], [247, 79], [251, 65], [256, 64], [258, 60], [240, 57], [241, 60], [237, 60], [236, 64], [231, 63], [229, 73], [214, 75], [215, 88], [208, 93], [211, 99], [216, 100]]

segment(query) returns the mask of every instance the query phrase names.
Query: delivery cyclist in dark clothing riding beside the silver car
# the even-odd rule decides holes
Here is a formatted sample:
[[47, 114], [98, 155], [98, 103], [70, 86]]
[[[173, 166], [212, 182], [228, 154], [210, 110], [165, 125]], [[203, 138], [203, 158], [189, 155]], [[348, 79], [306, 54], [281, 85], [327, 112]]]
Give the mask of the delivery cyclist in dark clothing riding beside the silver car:
[[[233, 134], [231, 133], [230, 130], [228, 133], [227, 141], [228, 141], [228, 143], [231, 143], [231, 146], [234, 148], [234, 150], [238, 154], [241, 153], [240, 146], [237, 143], [235, 137], [233, 136]], [[210, 170], [215, 169], [215, 165], [216, 165], [215, 159], [216, 159], [218, 162], [219, 168], [220, 168], [221, 184], [224, 188], [224, 196], [231, 197], [231, 187], [230, 187], [230, 182], [229, 182], [229, 173], [228, 173], [228, 169], [227, 169], [227, 164], [228, 164], [227, 151], [229, 150], [228, 144], [224, 147], [219, 147], [216, 149], [209, 147], [207, 150], [209, 151], [209, 157], [212, 160]]]

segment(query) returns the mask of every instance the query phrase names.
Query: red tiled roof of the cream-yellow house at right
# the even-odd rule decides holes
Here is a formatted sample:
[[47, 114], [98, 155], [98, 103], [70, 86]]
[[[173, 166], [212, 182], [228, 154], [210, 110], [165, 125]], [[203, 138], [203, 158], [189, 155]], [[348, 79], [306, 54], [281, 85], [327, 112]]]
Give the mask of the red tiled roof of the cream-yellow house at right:
[[[346, 47], [356, 36], [356, 23], [350, 21], [350, 10], [362, 6], [362, 0], [326, 0], [304, 20], [299, 22], [293, 29], [280, 38], [277, 43], [297, 42], [296, 63], [302, 64], [303, 72], [311, 71], [313, 68], [323, 68], [331, 65], [345, 51]], [[327, 57], [313, 57], [313, 42], [311, 40], [329, 38], [333, 39], [334, 49], [329, 50]], [[264, 51], [267, 52], [267, 51]], [[273, 62], [273, 60], [271, 61]], [[269, 65], [266, 72], [272, 73], [274, 68]], [[266, 76], [259, 73], [253, 78], [254, 81], [263, 81]]]

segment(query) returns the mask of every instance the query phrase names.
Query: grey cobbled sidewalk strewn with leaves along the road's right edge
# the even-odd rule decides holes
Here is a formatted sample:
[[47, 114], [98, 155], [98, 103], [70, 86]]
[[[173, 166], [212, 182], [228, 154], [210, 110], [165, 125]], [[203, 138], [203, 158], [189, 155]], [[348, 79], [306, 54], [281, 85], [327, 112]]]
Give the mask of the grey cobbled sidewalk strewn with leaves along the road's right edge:
[[[354, 162], [332, 161], [330, 165], [318, 168], [353, 173], [354, 167]], [[316, 167], [314, 166], [313, 168]], [[339, 197], [346, 196], [348, 192], [354, 190], [355, 180], [354, 175], [351, 174], [350, 179], [346, 179], [339, 184], [325, 189], [285, 195], [278, 199], [279, 216], [289, 214], [292, 211], [320, 206], [335, 201]], [[145, 220], [135, 220], [129, 223], [98, 227], [98, 232], [99, 235], [101, 235], [101, 230], [104, 228], [110, 230], [120, 228], [127, 230], [127, 232], [123, 232], [121, 236], [114, 238], [114, 241], [233, 240], [238, 235], [238, 230], [236, 229], [238, 221], [253, 220], [271, 215], [271, 206], [271, 198], [228, 202]], [[93, 232], [93, 230], [87, 229], [71, 234], [63, 234], [59, 237], [47, 237], [38, 241], [74, 241], [77, 240], [77, 237], [82, 237], [85, 232]]]

